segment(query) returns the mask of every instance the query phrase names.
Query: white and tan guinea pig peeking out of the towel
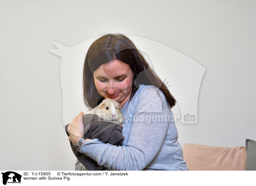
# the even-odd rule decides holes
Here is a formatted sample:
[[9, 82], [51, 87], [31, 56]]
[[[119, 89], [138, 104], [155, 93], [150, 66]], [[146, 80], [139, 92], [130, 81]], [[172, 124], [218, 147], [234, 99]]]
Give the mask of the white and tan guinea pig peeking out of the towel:
[[104, 99], [96, 108], [85, 112], [84, 114], [95, 114], [105, 121], [110, 121], [122, 125], [124, 118], [120, 110], [121, 105], [113, 99]]

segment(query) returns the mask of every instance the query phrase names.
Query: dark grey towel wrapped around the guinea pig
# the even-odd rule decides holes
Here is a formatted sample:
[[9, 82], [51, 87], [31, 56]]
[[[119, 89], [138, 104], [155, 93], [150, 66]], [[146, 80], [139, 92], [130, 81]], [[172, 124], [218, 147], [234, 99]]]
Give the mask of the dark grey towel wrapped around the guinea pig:
[[[122, 135], [122, 127], [119, 124], [113, 122], [103, 121], [102, 118], [94, 114], [85, 114], [83, 116], [84, 122], [84, 137], [89, 139], [98, 138], [99, 141], [104, 143], [110, 143], [112, 145], [122, 145], [125, 137]], [[67, 135], [67, 127], [69, 124], [65, 125], [65, 130]], [[91, 171], [103, 170], [104, 166], [99, 166], [98, 163], [87, 155], [80, 153], [76, 150], [72, 142], [70, 142], [71, 149], [77, 159]]]

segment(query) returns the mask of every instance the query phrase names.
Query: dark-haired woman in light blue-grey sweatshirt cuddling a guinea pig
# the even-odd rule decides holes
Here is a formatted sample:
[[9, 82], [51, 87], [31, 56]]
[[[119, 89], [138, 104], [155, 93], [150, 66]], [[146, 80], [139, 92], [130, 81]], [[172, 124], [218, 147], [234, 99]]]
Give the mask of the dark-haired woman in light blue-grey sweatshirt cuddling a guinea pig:
[[[121, 146], [83, 139], [83, 113], [68, 131], [79, 151], [109, 170], [188, 170], [171, 108], [175, 99], [151, 70], [133, 42], [122, 34], [103, 35], [87, 51], [83, 71], [84, 103], [96, 107], [111, 98], [125, 118]], [[79, 161], [76, 170], [87, 170]]]

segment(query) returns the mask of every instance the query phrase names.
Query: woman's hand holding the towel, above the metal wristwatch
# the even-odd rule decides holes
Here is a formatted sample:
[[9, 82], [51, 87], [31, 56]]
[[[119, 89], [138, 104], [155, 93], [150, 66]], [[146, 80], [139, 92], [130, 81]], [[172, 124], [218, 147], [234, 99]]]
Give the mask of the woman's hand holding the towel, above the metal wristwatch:
[[79, 113], [68, 125], [67, 131], [69, 133], [68, 139], [75, 145], [81, 137], [84, 136], [84, 113]]

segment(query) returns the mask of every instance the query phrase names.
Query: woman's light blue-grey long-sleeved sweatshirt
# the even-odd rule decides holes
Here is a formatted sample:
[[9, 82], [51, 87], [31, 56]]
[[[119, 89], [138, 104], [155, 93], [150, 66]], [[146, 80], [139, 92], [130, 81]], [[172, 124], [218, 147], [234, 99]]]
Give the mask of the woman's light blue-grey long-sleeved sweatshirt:
[[[109, 170], [189, 170], [163, 92], [141, 84], [121, 110], [125, 118], [121, 146], [99, 139], [84, 142], [80, 152]], [[76, 170], [87, 170], [78, 160]]]

